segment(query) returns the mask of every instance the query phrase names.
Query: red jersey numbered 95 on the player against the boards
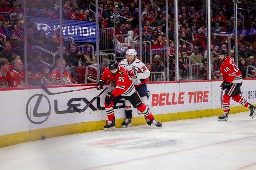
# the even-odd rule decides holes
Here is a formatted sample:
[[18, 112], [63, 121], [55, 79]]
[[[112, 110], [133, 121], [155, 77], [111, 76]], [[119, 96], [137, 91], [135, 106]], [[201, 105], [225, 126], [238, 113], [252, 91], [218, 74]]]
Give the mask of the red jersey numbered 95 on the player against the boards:
[[118, 66], [118, 68], [119, 71], [113, 75], [109, 71], [109, 68], [106, 67], [103, 72], [102, 79], [105, 82], [109, 80], [111, 85], [114, 87], [114, 90], [111, 91], [111, 94], [113, 94], [115, 97], [119, 95], [130, 96], [135, 92], [133, 82], [130, 80], [130, 77], [123, 67]]

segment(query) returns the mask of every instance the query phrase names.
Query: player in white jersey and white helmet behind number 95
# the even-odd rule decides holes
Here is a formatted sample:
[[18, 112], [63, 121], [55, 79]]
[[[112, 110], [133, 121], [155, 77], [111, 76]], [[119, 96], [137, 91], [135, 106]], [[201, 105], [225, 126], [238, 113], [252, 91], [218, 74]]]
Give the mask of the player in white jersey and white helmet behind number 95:
[[[120, 63], [120, 66], [126, 69], [128, 75], [133, 81], [133, 85], [135, 86], [136, 91], [139, 93], [142, 102], [144, 105], [149, 108], [147, 98], [149, 97], [147, 91], [147, 78], [150, 75], [150, 71], [147, 69], [146, 65], [142, 63], [139, 59], [137, 59], [137, 51], [135, 49], [128, 49], [126, 51], [126, 59], [123, 59]], [[132, 104], [126, 100], [126, 120], [123, 122], [123, 128], [127, 128], [131, 126], [132, 123]], [[138, 112], [141, 114], [141, 112]], [[151, 123], [147, 120], [147, 124], [150, 126]]]

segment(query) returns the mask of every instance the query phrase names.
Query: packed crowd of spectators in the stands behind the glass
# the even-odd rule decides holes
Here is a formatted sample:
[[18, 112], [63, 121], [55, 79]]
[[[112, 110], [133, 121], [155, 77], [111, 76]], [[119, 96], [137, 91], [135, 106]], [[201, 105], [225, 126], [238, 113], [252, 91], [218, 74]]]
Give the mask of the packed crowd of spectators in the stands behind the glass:
[[[165, 0], [142, 0], [142, 30], [139, 29], [139, 4], [138, 0], [100, 0], [98, 2], [98, 12], [95, 11], [95, 0], [67, 0], [62, 9], [62, 18], [68, 20], [95, 22], [99, 19], [99, 27], [102, 35], [101, 43], [104, 39], [111, 39], [110, 44], [114, 44], [113, 52], [120, 59], [125, 58], [125, 52], [135, 47], [142, 34], [142, 49], [145, 49], [145, 58], [141, 58], [152, 72], [164, 72], [168, 80], [175, 77], [175, 52], [178, 52], [178, 70], [181, 78], [189, 74], [192, 69], [197, 79], [207, 79], [207, 63], [211, 62], [212, 72], [216, 75], [212, 77], [218, 79], [218, 51], [227, 49], [231, 44], [230, 54], [234, 56], [234, 17], [230, 12], [230, 6], [225, 1], [220, 1], [220, 7], [211, 7], [211, 40], [207, 40], [206, 10], [200, 5], [185, 5], [178, 9], [178, 38], [180, 39], [178, 51], [174, 50], [174, 9], [173, 0], [168, 0], [166, 10]], [[40, 18], [59, 19], [59, 0], [27, 0], [26, 16]], [[168, 17], [166, 18], [166, 12]], [[255, 21], [254, 10], [248, 9], [244, 13], [246, 21]], [[64, 70], [65, 84], [77, 83], [76, 66], [97, 67], [93, 46], [88, 43], [74, 42], [68, 46], [59, 47], [60, 29], [54, 30], [54, 34], [47, 36], [44, 29], [39, 29], [36, 23], [27, 23], [27, 36], [24, 37], [24, 4], [21, 0], [9, 1], [0, 0], [0, 81], [1, 87], [22, 87], [24, 86], [25, 74], [28, 75], [29, 86], [40, 84], [51, 85], [60, 83], [60, 68]], [[167, 21], [167, 24], [166, 24]], [[75, 21], [74, 21], [75, 22]], [[250, 26], [250, 25], [249, 25]], [[243, 78], [251, 78], [246, 74], [249, 67], [249, 74], [255, 75], [256, 67], [256, 28], [247, 24], [237, 23], [238, 31], [238, 63], [239, 69], [243, 72]], [[103, 28], [103, 29], [102, 29]], [[111, 29], [110, 33], [107, 30]], [[248, 28], [248, 29], [247, 29]], [[225, 32], [230, 34], [230, 42], [226, 36], [216, 36], [214, 33]], [[116, 38], [119, 37], [119, 38]], [[121, 37], [121, 38], [120, 38]], [[169, 42], [167, 43], [167, 37]], [[26, 39], [26, 44], [24, 40]], [[62, 40], [64, 42], [64, 39]], [[211, 61], [207, 61], [207, 42], [211, 42]], [[28, 49], [28, 72], [24, 73], [24, 56], [15, 47], [26, 45]], [[168, 47], [167, 47], [168, 44]], [[191, 45], [192, 44], [192, 45]], [[83, 47], [81, 47], [83, 45]], [[107, 44], [109, 45], [109, 44]], [[151, 46], [150, 51], [146, 46]], [[34, 50], [33, 46], [38, 46], [55, 55], [55, 66], [50, 67], [53, 58], [44, 51]], [[101, 47], [103, 45], [100, 45]], [[109, 46], [107, 46], [109, 47]], [[136, 49], [136, 48], [135, 48]], [[165, 49], [165, 50], [164, 50]], [[166, 56], [166, 49], [169, 56]], [[105, 53], [109, 49], [101, 49]], [[111, 50], [111, 49], [110, 49]], [[62, 51], [64, 61], [60, 65], [60, 51]], [[156, 52], [157, 51], [157, 52]], [[138, 50], [137, 50], [138, 52]], [[139, 54], [139, 53], [138, 53]], [[143, 55], [144, 55], [143, 54]], [[151, 54], [151, 55], [149, 55]], [[151, 58], [149, 58], [151, 57]], [[42, 62], [43, 61], [43, 62]], [[100, 65], [108, 65], [107, 56], [100, 57]], [[190, 67], [193, 65], [193, 67]], [[152, 79], [152, 81], [165, 81], [166, 79]], [[80, 81], [79, 81], [80, 82]]]

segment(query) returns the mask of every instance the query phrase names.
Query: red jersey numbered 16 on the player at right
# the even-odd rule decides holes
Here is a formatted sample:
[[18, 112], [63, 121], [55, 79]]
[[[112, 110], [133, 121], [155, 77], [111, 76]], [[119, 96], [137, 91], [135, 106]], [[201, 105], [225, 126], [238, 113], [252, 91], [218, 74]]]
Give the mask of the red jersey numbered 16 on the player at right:
[[220, 62], [220, 72], [223, 81], [229, 83], [242, 83], [242, 73], [234, 63], [234, 59], [230, 56]]

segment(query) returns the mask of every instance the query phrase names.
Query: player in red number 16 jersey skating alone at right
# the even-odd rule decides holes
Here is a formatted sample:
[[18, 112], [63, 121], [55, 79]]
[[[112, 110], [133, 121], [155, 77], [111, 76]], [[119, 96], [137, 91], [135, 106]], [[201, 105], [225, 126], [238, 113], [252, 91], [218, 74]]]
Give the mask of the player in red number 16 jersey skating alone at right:
[[223, 83], [220, 85], [220, 87], [225, 90], [225, 93], [222, 97], [224, 113], [218, 117], [218, 121], [228, 120], [231, 97], [240, 105], [243, 105], [244, 107], [250, 109], [250, 116], [254, 117], [256, 114], [256, 107], [249, 104], [249, 102], [247, 102], [247, 100], [242, 98], [242, 96], [240, 95], [240, 87], [242, 86], [242, 73], [235, 65], [234, 59], [227, 55], [227, 50], [220, 50], [220, 72], [223, 77]]

